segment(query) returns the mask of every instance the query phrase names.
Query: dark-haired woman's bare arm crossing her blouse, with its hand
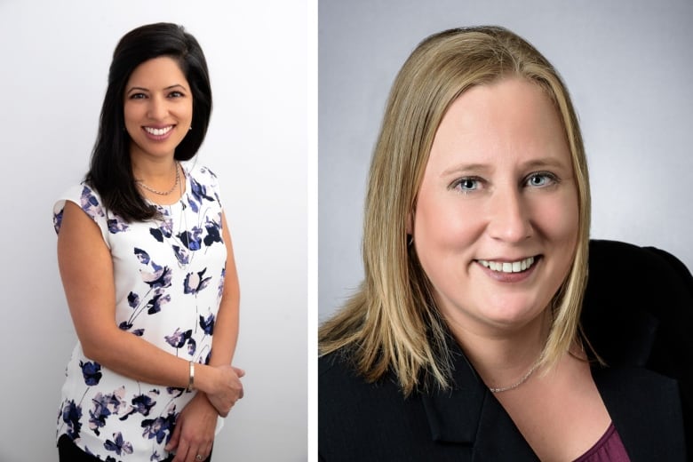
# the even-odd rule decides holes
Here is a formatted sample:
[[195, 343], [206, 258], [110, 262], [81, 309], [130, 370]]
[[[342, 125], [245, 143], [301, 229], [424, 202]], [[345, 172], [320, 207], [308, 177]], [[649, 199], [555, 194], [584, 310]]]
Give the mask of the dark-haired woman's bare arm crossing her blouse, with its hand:
[[[70, 315], [86, 356], [136, 380], [187, 386], [186, 360], [117, 327], [110, 252], [96, 223], [71, 202], [63, 211], [58, 263]], [[225, 397], [231, 404], [237, 394], [229, 389], [236, 385], [234, 380], [238, 378], [228, 368], [195, 365], [195, 387], [211, 397]]]

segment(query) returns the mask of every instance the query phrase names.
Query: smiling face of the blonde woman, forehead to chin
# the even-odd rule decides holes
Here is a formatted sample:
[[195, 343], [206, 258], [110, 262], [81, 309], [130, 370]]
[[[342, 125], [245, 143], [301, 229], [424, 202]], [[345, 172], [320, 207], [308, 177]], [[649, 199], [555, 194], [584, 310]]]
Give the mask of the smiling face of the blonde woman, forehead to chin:
[[578, 241], [570, 150], [538, 84], [504, 78], [453, 101], [410, 232], [453, 331], [492, 334], [538, 319]]

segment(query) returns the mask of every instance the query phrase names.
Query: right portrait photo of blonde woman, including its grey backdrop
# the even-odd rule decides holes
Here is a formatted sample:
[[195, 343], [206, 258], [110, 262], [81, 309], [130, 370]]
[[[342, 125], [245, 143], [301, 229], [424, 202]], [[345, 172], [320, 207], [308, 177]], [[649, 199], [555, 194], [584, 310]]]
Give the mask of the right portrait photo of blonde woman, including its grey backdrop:
[[693, 9], [582, 6], [321, 3], [322, 460], [690, 457]]

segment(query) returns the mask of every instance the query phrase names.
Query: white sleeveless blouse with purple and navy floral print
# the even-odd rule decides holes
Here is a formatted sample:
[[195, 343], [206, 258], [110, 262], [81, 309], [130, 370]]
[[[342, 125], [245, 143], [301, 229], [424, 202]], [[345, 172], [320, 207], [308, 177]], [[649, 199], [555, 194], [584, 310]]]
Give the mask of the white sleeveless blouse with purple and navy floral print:
[[[65, 203], [72, 201], [100, 227], [113, 258], [120, 329], [207, 363], [227, 257], [222, 209], [214, 173], [202, 166], [184, 170], [186, 192], [177, 203], [156, 206], [161, 219], [124, 222], [81, 184], [55, 204], [53, 224], [59, 233]], [[163, 460], [176, 418], [194, 393], [117, 374], [86, 357], [77, 342], [62, 387], [57, 437], [67, 434], [101, 460]]]

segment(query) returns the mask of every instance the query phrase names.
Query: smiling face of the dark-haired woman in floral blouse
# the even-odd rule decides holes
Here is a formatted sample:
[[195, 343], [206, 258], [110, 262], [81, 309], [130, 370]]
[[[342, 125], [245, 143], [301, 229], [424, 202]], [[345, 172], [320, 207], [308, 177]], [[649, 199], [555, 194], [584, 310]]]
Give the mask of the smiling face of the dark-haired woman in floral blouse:
[[192, 92], [178, 63], [161, 57], [135, 68], [125, 86], [123, 113], [131, 157], [172, 157], [193, 118]]

